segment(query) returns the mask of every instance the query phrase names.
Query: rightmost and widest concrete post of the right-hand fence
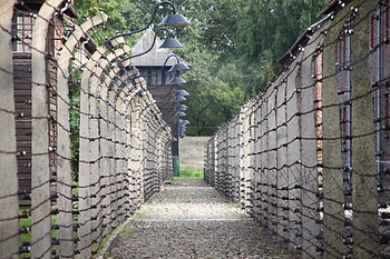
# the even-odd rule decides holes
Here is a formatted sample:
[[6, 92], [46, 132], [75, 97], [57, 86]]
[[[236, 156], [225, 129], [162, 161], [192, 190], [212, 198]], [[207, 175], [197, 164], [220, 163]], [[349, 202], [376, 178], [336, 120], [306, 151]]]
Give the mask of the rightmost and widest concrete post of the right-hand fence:
[[[374, 8], [374, 2], [362, 9], [357, 20], [368, 17]], [[384, 14], [383, 14], [384, 16]], [[388, 19], [388, 18], [387, 18]], [[352, 141], [352, 203], [353, 203], [353, 258], [382, 258], [380, 255], [380, 233], [378, 219], [378, 188], [376, 170], [376, 139], [372, 91], [370, 82], [370, 62], [367, 58], [370, 46], [365, 40], [370, 34], [370, 23], [362, 22], [353, 29], [352, 53], [354, 60], [364, 60], [353, 64], [352, 97], [362, 97], [352, 103], [352, 136], [365, 136], [354, 138]], [[386, 48], [386, 47], [382, 47]], [[389, 112], [389, 111], [388, 111]], [[389, 114], [389, 113], [388, 113]], [[382, 113], [383, 117], [383, 113]]]

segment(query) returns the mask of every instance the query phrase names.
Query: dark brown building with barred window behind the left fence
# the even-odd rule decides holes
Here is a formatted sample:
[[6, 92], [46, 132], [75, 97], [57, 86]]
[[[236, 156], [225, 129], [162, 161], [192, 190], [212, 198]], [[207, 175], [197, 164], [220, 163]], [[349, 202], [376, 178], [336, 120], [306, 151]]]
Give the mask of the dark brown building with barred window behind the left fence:
[[[16, 103], [16, 129], [18, 148], [18, 178], [21, 199], [29, 200], [31, 190], [31, 43], [32, 28], [38, 11], [45, 1], [25, 0], [17, 1], [12, 17], [12, 59], [14, 80], [14, 103]], [[49, 73], [48, 83], [48, 108], [52, 121], [57, 118], [57, 60], [58, 50], [64, 47], [64, 37], [67, 37], [75, 29], [72, 19], [77, 12], [72, 2], [64, 2], [61, 7], [64, 16], [55, 14], [50, 20], [46, 52], [46, 68]], [[96, 49], [96, 44], [89, 40], [84, 46], [84, 53], [87, 56]], [[81, 52], [80, 52], [81, 54]], [[50, 147], [57, 146], [57, 123], [50, 123], [49, 130]], [[56, 157], [50, 155], [51, 175], [56, 176]]]

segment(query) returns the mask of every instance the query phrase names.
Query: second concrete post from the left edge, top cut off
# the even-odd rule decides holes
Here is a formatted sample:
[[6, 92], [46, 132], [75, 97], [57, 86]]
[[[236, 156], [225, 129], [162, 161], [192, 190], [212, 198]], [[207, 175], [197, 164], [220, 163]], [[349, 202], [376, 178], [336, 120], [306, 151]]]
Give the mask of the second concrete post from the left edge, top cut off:
[[[32, 163], [31, 163], [31, 257], [51, 258], [49, 107], [47, 92], [46, 43], [55, 11], [62, 0], [47, 0], [32, 29]], [[49, 235], [48, 235], [49, 233]]]

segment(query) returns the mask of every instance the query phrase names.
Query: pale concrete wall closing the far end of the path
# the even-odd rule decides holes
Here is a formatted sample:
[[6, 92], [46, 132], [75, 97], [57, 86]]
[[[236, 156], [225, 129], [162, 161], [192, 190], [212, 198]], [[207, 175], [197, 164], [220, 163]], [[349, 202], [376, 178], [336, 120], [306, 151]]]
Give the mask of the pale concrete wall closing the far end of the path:
[[178, 141], [181, 168], [202, 169], [204, 167], [204, 147], [209, 137], [185, 137]]

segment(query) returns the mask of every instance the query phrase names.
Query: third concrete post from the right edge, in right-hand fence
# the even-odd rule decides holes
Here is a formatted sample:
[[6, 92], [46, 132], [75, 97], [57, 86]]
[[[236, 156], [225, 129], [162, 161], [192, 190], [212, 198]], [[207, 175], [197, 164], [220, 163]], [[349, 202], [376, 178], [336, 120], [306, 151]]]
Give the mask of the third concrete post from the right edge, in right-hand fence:
[[[309, 57], [313, 56], [318, 46], [323, 44], [325, 36], [323, 36], [322, 32], [326, 31], [329, 26], [330, 26], [329, 23], [323, 24], [322, 28], [313, 34], [312, 39], [308, 42], [308, 46], [304, 48], [304, 52], [302, 53], [303, 62], [301, 64], [302, 86], [314, 86], [315, 79], [313, 78], [313, 76], [315, 74], [313, 74], [313, 64], [312, 64], [314, 57], [311, 57], [311, 58]], [[328, 89], [332, 89], [332, 88], [328, 88]], [[302, 165], [310, 167], [310, 168], [302, 168], [302, 172], [301, 172], [301, 179], [302, 179], [301, 221], [302, 221], [302, 251], [303, 251], [302, 258], [306, 259], [306, 258], [321, 256], [321, 253], [316, 251], [318, 250], [316, 247], [321, 246], [321, 241], [322, 241], [319, 239], [321, 233], [321, 226], [319, 223], [319, 219], [321, 217], [320, 217], [320, 213], [316, 211], [316, 208], [320, 208], [320, 200], [319, 200], [319, 197], [316, 196], [316, 192], [319, 191], [320, 175], [316, 168], [313, 169], [315, 165], [319, 162], [318, 156], [316, 156], [318, 141], [315, 140], [315, 138], [318, 138], [318, 132], [315, 127], [304, 127], [308, 124], [312, 126], [313, 121], [315, 122], [316, 112], [313, 112], [313, 110], [315, 110], [315, 103], [318, 103], [315, 87], [310, 89], [302, 89], [300, 91], [299, 98], [300, 98], [299, 109], [300, 109], [300, 112], [302, 113], [299, 118], [300, 119], [299, 124], [301, 126], [300, 133], [301, 133], [301, 137], [303, 138], [301, 140], [301, 156], [302, 156], [301, 161], [302, 161]], [[337, 118], [332, 117], [331, 120], [335, 122], [338, 119], [339, 119], [338, 117]], [[337, 127], [340, 127], [340, 124], [338, 124]], [[310, 140], [310, 138], [314, 140]], [[333, 177], [334, 177], [334, 171], [332, 172], [332, 176], [326, 176], [326, 181], [330, 178], [332, 179], [331, 181], [333, 181], [333, 179], [334, 180], [338, 179], [338, 177], [337, 178], [333, 178]], [[324, 187], [323, 189], [324, 196], [326, 196], [328, 193], [325, 195], [325, 188], [328, 187], [325, 187], [324, 182], [323, 182], [323, 187]], [[332, 192], [333, 190], [338, 192], [338, 190], [333, 189], [333, 187], [331, 189], [332, 189]], [[325, 203], [328, 203], [329, 200], [324, 199], [323, 201], [325, 206]], [[332, 216], [332, 213], [333, 212], [328, 213], [328, 211], [326, 213], [323, 213], [323, 220], [328, 221], [330, 219], [333, 222], [335, 218]], [[340, 223], [340, 222], [332, 225], [331, 228], [333, 227], [337, 229], [337, 231], [342, 230], [344, 228], [343, 223]], [[328, 231], [329, 229], [323, 228], [323, 233], [326, 236], [326, 238], [329, 237]], [[332, 230], [330, 232], [331, 235], [334, 235]], [[332, 243], [333, 241], [331, 241], [330, 243]]]

